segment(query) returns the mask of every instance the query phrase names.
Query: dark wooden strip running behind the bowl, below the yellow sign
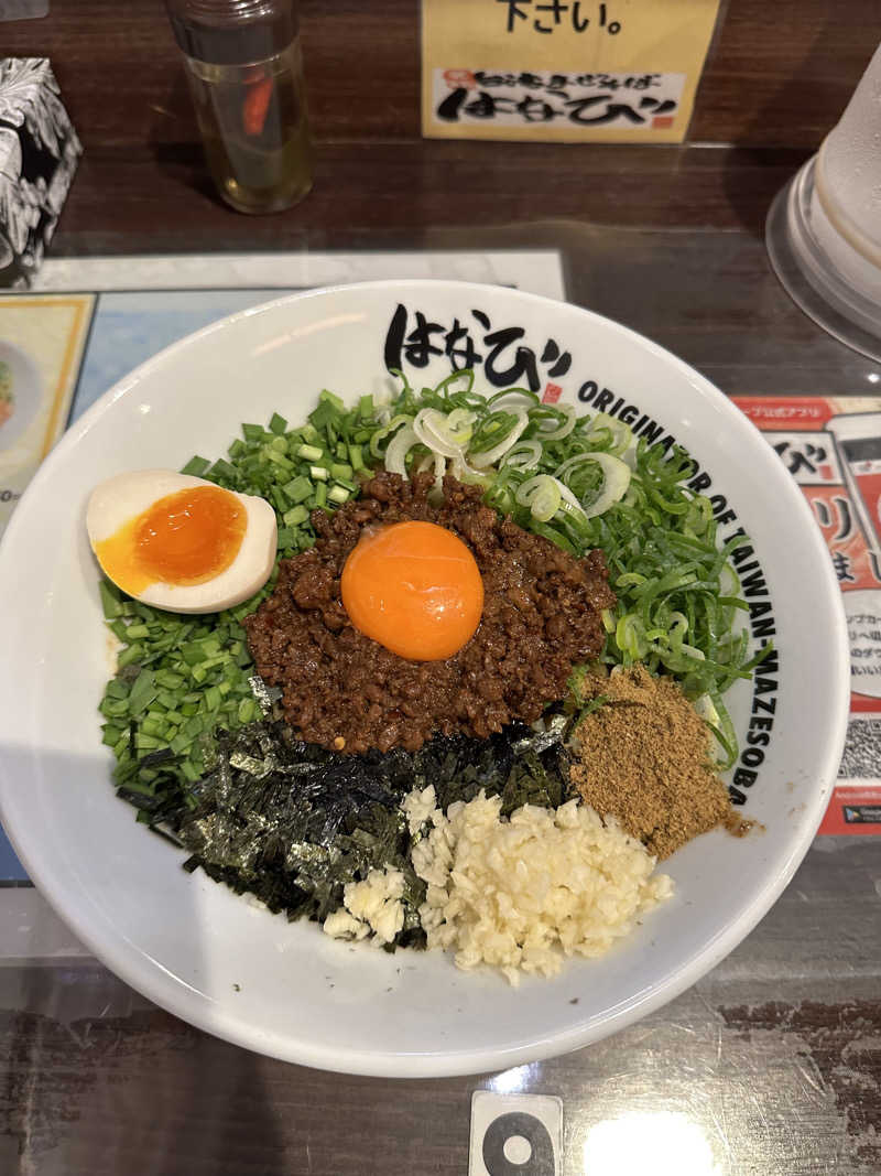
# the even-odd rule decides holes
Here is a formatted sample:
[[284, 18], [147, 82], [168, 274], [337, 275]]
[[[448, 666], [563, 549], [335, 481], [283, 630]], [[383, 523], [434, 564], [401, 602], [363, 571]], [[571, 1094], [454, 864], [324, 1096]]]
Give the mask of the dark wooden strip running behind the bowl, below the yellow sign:
[[[430, 247], [536, 219], [748, 228], [760, 235], [800, 151], [450, 143], [323, 143], [302, 205], [248, 218], [211, 192], [199, 145], [125, 162], [94, 148], [62, 212], [56, 255]], [[577, 166], [573, 166], [577, 165]], [[735, 192], [732, 192], [735, 188]]]

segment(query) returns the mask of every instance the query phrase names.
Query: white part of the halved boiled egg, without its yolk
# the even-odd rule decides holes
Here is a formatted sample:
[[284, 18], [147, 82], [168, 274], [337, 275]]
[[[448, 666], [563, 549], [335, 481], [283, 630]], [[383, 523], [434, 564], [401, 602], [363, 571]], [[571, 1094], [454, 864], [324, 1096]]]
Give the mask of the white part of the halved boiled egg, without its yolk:
[[[147, 510], [157, 499], [191, 486], [213, 485], [202, 477], [176, 474], [170, 469], [137, 469], [109, 477], [95, 487], [86, 507], [86, 530], [92, 549], [114, 535], [129, 519]], [[218, 613], [241, 604], [258, 592], [275, 564], [275, 510], [264, 499], [236, 494], [235, 490], [227, 493], [234, 494], [244, 507], [246, 528], [238, 553], [224, 572], [201, 584], [155, 581], [137, 594], [132, 594], [125, 584], [119, 587], [144, 604], [174, 613]]]

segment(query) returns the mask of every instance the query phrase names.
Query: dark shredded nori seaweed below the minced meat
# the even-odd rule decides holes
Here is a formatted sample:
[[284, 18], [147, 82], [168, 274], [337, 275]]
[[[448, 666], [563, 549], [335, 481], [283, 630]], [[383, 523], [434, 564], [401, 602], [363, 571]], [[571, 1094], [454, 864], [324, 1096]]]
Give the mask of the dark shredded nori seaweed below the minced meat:
[[512, 723], [489, 740], [437, 737], [415, 753], [344, 756], [265, 719], [220, 733], [200, 780], [182, 781], [176, 756], [162, 749], [132, 764], [117, 795], [140, 810], [139, 821], [189, 851], [187, 870], [201, 867], [289, 920], [323, 921], [342, 906], [347, 882], [399, 869], [404, 927], [389, 947], [424, 947], [425, 884], [410, 863], [401, 802], [433, 784], [444, 811], [482, 789], [502, 795], [503, 815], [523, 804], [557, 808], [569, 793], [565, 726], [565, 716], [550, 714], [540, 731]]

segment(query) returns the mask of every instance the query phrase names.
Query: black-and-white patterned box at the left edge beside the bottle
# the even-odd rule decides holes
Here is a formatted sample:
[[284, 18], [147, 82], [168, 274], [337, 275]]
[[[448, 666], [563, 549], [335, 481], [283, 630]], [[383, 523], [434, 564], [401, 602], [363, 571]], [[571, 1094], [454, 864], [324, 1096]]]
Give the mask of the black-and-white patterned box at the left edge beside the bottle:
[[48, 58], [0, 60], [0, 286], [28, 286], [82, 154]]

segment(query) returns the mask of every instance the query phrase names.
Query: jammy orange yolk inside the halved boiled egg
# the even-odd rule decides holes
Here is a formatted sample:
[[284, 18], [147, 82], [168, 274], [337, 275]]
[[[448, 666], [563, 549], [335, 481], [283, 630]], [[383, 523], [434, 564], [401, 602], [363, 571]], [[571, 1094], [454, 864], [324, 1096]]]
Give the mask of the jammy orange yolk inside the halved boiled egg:
[[157, 580], [189, 586], [214, 580], [233, 563], [244, 539], [244, 506], [218, 486], [167, 494], [95, 543], [101, 567], [135, 596]]

